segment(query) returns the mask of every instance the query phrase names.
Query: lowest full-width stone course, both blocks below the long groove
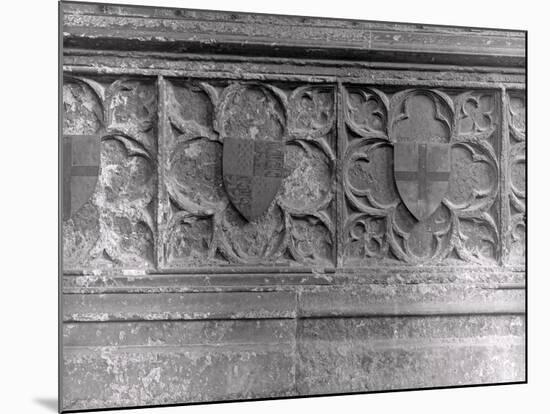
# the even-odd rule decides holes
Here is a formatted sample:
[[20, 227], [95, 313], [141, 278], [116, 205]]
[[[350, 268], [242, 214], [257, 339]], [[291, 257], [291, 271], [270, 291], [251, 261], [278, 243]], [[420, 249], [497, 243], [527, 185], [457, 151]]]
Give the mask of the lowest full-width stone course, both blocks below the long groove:
[[517, 315], [71, 323], [65, 409], [525, 379]]

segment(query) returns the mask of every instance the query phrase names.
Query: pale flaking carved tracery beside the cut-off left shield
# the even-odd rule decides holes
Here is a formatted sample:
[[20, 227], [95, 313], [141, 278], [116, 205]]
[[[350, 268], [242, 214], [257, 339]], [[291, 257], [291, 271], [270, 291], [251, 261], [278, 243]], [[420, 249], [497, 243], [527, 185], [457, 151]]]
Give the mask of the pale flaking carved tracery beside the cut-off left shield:
[[154, 263], [157, 93], [154, 80], [67, 76], [63, 134], [100, 141], [99, 178], [63, 222], [64, 268]]

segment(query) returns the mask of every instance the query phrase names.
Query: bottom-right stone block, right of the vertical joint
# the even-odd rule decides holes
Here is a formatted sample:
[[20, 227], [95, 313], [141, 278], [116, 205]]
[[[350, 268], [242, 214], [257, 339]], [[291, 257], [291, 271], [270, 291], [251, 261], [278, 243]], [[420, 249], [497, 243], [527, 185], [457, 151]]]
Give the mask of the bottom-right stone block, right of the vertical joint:
[[521, 316], [301, 319], [300, 394], [525, 379]]

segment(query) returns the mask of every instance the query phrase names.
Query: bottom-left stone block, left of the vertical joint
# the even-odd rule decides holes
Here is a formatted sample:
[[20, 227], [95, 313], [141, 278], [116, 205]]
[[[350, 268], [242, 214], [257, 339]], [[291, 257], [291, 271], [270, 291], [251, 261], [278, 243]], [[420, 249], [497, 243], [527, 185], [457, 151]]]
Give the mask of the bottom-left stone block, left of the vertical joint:
[[64, 409], [289, 395], [293, 320], [64, 327]]

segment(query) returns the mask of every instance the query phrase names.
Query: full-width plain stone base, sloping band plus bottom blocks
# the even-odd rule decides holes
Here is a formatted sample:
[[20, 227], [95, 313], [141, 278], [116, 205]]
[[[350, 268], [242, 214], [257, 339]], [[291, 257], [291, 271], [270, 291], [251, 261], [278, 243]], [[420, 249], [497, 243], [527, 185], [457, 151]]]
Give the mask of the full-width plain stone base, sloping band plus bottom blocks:
[[522, 289], [84, 290], [64, 295], [64, 410], [525, 380]]

